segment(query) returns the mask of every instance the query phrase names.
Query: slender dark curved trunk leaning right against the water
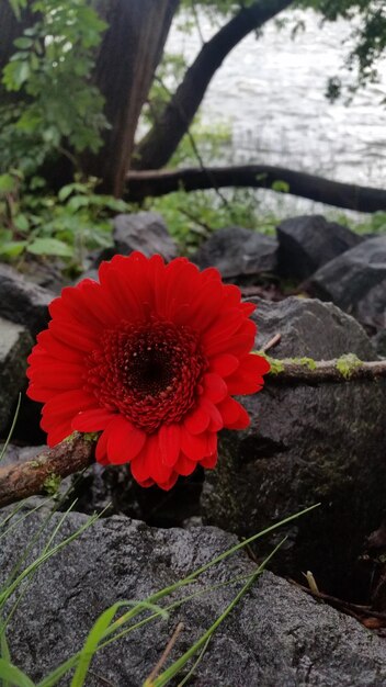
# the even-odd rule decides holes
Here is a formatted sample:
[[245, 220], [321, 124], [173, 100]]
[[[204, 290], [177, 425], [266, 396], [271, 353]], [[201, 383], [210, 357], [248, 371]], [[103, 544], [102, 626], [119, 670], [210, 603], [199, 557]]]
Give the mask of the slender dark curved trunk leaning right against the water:
[[251, 31], [294, 3], [294, 0], [258, 0], [243, 8], [208, 41], [155, 126], [135, 150], [134, 169], [159, 169], [167, 165], [186, 133], [205, 91], [225, 57]]

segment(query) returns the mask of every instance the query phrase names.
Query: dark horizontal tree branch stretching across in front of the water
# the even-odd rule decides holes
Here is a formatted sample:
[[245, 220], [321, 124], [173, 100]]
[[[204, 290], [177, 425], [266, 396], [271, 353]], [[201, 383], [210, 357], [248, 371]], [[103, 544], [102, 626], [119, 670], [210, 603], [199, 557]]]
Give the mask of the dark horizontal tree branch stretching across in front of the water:
[[288, 187], [285, 191], [280, 190], [281, 193], [299, 195], [357, 212], [372, 213], [386, 210], [386, 191], [383, 189], [331, 181], [316, 174], [268, 165], [129, 171], [126, 174], [124, 198], [127, 201], [139, 202], [146, 196], [166, 195], [180, 189], [197, 191], [214, 187], [249, 187], [272, 191], [279, 181], [285, 182]]

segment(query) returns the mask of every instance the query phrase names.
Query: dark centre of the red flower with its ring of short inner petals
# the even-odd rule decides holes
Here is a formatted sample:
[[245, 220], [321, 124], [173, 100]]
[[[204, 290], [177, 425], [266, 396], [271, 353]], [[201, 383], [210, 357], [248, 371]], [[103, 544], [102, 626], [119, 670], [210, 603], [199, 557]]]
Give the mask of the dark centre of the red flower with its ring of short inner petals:
[[103, 335], [87, 368], [86, 388], [150, 433], [180, 421], [195, 405], [207, 362], [189, 327], [123, 323]]

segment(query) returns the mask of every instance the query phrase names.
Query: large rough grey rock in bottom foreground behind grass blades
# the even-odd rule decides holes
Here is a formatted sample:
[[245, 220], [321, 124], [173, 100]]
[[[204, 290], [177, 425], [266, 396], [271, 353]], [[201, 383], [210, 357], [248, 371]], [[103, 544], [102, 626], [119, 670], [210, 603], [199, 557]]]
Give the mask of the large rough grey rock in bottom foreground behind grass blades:
[[[42, 522], [42, 516], [30, 514], [2, 542], [2, 579], [31, 542], [35, 541], [30, 560], [43, 549], [48, 532], [37, 540], [38, 544], [34, 540]], [[50, 529], [58, 522], [59, 516], [54, 515]], [[84, 522], [84, 516], [70, 514], [56, 542]], [[109, 606], [117, 600], [146, 598], [234, 543], [232, 537], [214, 528], [157, 530], [124, 517], [99, 520], [41, 566], [25, 587], [8, 631], [14, 663], [32, 679], [42, 679], [81, 649], [92, 623]], [[169, 620], [149, 622], [98, 652], [86, 685], [138, 687], [182, 621], [183, 630], [167, 663], [170, 665], [218, 618], [241, 585], [234, 583], [213, 590], [208, 587], [251, 574], [254, 567], [239, 553], [209, 568], [193, 587], [180, 594], [195, 596], [172, 611]], [[168, 602], [169, 597], [160, 601], [163, 606]], [[192, 663], [179, 675], [180, 680]], [[194, 668], [194, 684], [383, 687], [384, 640], [265, 573], [213, 635]]]

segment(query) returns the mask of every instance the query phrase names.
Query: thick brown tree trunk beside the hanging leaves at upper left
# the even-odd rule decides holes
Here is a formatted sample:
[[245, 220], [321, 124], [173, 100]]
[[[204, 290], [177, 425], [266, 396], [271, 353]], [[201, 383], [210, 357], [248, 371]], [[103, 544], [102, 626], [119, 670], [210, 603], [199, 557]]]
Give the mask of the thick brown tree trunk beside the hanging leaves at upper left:
[[100, 47], [94, 83], [105, 98], [111, 128], [95, 155], [84, 155], [87, 174], [102, 180], [101, 190], [122, 195], [134, 148], [134, 135], [171, 21], [180, 0], [105, 0], [95, 2], [109, 29]]

